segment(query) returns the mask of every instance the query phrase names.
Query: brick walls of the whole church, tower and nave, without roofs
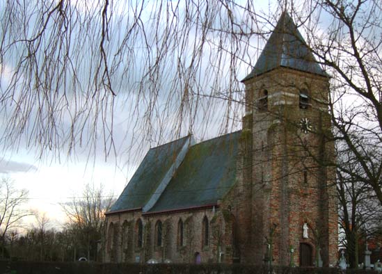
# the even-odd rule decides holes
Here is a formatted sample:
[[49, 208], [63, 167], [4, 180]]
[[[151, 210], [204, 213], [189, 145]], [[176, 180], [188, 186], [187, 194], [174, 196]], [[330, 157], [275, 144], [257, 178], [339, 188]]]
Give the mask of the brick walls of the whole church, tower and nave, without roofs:
[[[280, 67], [246, 81], [237, 182], [214, 207], [175, 213], [140, 210], [107, 215], [106, 261], [149, 259], [193, 263], [240, 261], [244, 264], [334, 266], [337, 261], [337, 201], [334, 145], [330, 141], [328, 79]], [[258, 108], [267, 91], [267, 108]], [[308, 108], [300, 108], [308, 90]], [[311, 130], [301, 130], [308, 118]], [[208, 244], [203, 245], [209, 224]], [[143, 223], [138, 246], [137, 222]], [[162, 241], [157, 244], [157, 222]], [[183, 224], [180, 244], [179, 223]], [[308, 238], [303, 225], [308, 225]], [[308, 247], [307, 254], [301, 250]], [[291, 252], [293, 250], [294, 252]], [[306, 250], [304, 251], [306, 253]]]

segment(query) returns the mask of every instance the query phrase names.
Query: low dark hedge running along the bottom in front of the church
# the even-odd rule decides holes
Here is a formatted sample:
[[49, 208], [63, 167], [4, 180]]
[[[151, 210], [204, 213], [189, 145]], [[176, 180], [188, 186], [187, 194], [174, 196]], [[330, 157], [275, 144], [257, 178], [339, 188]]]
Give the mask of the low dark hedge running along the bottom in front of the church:
[[[102, 264], [89, 261], [0, 261], [0, 274], [340, 274], [337, 268], [301, 268], [244, 264]], [[349, 270], [346, 274], [375, 274]]]

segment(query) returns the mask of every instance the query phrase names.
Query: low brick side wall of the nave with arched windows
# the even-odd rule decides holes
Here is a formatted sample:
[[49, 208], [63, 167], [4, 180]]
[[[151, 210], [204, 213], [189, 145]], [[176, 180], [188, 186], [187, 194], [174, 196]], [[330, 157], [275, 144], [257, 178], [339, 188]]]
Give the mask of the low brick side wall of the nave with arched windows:
[[[201, 211], [186, 211], [180, 213], [144, 215], [140, 211], [113, 213], [107, 216], [108, 228], [118, 229], [119, 233], [111, 239], [111, 233], [106, 232], [106, 246], [113, 241], [113, 250], [106, 249], [106, 261], [115, 262], [144, 262], [149, 259], [164, 261], [170, 259], [174, 262], [192, 263], [196, 254], [200, 255], [203, 263], [223, 261], [232, 262], [233, 239], [232, 214], [225, 213], [218, 207], [210, 207]], [[202, 221], [207, 217], [209, 223], [209, 244], [202, 246]], [[143, 246], [139, 248], [136, 244], [137, 232], [136, 222], [143, 222]], [[162, 223], [162, 242], [157, 245], [156, 224]], [[178, 223], [182, 220], [184, 224], [184, 240], [180, 246], [178, 242]], [[111, 223], [113, 225], [111, 225]], [[122, 234], [123, 226], [128, 227], [128, 232]], [[113, 234], [115, 235], [115, 234]], [[227, 249], [227, 251], [226, 251]], [[116, 258], [116, 259], [114, 259]]]

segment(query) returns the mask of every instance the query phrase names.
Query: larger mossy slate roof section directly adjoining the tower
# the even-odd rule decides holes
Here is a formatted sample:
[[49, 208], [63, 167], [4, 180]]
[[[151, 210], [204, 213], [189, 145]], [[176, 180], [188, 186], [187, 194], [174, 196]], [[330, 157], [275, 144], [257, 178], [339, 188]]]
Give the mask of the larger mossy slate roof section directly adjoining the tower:
[[241, 131], [190, 147], [183, 163], [149, 212], [216, 204], [236, 180]]

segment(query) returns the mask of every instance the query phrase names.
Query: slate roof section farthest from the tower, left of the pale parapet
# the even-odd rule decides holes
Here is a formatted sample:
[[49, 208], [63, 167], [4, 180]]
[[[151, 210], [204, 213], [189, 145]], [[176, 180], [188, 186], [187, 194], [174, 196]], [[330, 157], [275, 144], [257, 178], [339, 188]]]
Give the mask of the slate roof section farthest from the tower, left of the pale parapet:
[[190, 140], [191, 136], [186, 136], [150, 149], [110, 211], [144, 207]]

